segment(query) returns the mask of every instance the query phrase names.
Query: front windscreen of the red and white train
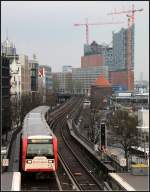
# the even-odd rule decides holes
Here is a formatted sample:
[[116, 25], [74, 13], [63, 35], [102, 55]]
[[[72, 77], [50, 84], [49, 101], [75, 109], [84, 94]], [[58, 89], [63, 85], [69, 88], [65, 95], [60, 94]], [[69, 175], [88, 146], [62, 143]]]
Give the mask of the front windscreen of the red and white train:
[[54, 158], [53, 144], [29, 143], [27, 148], [27, 158], [33, 158], [35, 156], [46, 156], [47, 158]]

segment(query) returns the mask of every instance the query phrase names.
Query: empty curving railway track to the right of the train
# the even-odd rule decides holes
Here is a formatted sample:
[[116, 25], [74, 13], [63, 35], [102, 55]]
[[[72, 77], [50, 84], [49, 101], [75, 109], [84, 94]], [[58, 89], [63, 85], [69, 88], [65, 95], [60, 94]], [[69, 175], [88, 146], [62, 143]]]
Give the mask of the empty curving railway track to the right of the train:
[[[72, 189], [101, 190], [103, 189], [102, 184], [91, 174], [93, 166], [88, 155], [85, 156], [82, 149], [79, 150], [79, 144], [72, 139], [66, 123], [67, 114], [72, 110], [75, 110], [80, 103], [81, 100], [79, 99], [78, 104], [75, 106], [70, 105], [66, 111], [63, 112], [63, 116], [57, 116], [57, 121], [53, 120], [53, 122], [51, 122], [51, 126], [53, 127], [51, 127], [51, 129], [54, 130], [58, 139], [59, 156], [63, 159], [63, 161], [65, 161], [66, 169], [69, 170], [69, 177], [72, 177], [72, 180], [75, 183], [71, 186]], [[63, 190], [65, 190], [65, 186]]]

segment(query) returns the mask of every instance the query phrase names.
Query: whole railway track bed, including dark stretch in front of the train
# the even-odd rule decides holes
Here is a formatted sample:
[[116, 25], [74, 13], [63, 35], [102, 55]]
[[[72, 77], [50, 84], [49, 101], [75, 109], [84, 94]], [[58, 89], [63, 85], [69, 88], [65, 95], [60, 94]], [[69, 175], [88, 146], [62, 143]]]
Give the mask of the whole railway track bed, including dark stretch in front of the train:
[[[76, 111], [81, 102], [81, 97], [72, 98], [48, 114], [47, 122], [58, 139], [57, 174], [21, 173], [21, 190], [103, 190], [102, 178], [96, 177], [93, 171], [96, 169], [94, 161], [72, 138], [67, 125], [67, 116], [71, 115], [72, 111]], [[85, 138], [82, 139], [87, 142]]]

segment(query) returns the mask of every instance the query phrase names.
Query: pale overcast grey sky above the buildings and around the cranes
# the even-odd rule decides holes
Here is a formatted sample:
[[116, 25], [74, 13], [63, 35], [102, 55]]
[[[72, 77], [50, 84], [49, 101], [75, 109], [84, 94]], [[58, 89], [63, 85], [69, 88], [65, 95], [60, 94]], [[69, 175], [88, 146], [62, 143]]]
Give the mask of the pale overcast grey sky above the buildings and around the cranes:
[[63, 65], [80, 67], [85, 27], [74, 23], [115, 22], [119, 25], [100, 25], [89, 28], [90, 43], [110, 43], [112, 31], [127, 27], [126, 15], [108, 16], [116, 10], [143, 8], [135, 13], [135, 79], [149, 79], [149, 2], [148, 1], [5, 1], [1, 6], [1, 40], [8, 37], [30, 58], [37, 55], [39, 64], [49, 65], [52, 71], [61, 71]]

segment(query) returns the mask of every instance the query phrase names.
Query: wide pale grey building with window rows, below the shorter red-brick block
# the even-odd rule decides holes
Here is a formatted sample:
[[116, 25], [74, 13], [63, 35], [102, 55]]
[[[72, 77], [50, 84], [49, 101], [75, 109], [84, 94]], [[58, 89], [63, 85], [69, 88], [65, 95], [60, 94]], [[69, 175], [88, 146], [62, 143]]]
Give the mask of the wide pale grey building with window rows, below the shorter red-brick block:
[[72, 83], [75, 94], [90, 94], [91, 85], [94, 85], [100, 74], [108, 80], [108, 66], [92, 68], [73, 68]]

